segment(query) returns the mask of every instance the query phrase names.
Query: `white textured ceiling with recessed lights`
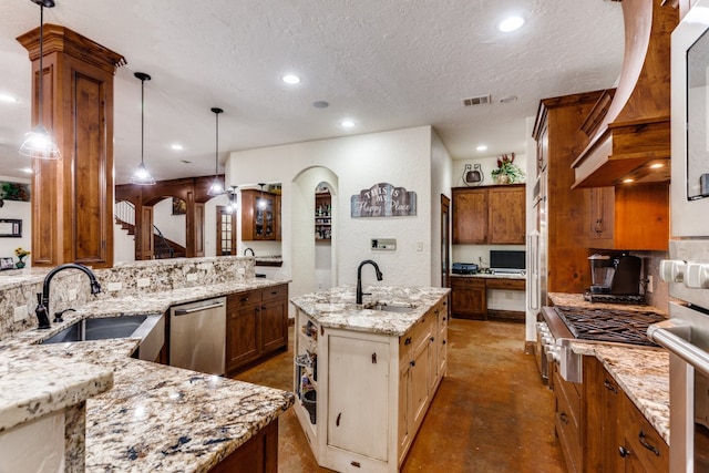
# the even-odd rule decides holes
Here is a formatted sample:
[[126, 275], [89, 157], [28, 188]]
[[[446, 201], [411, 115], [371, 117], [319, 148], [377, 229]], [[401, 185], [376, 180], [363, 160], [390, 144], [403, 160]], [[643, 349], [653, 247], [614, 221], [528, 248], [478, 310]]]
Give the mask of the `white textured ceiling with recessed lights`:
[[[513, 33], [496, 24], [526, 19]], [[604, 0], [56, 0], [47, 23], [125, 56], [115, 80], [116, 183], [140, 163], [157, 179], [214, 174], [229, 151], [432, 125], [454, 160], [524, 153], [541, 99], [613, 86], [623, 14]], [[30, 0], [0, 0], [0, 175], [27, 177], [30, 62], [16, 38], [39, 25]], [[287, 85], [286, 73], [302, 78]], [[465, 97], [491, 94], [489, 105]], [[511, 103], [500, 99], [516, 95]], [[316, 109], [315, 101], [330, 106]], [[356, 126], [339, 126], [350, 117]], [[171, 150], [181, 143], [183, 151]], [[479, 144], [486, 152], [477, 152]], [[189, 161], [185, 164], [182, 161]], [[222, 164], [219, 172], [223, 172]]]

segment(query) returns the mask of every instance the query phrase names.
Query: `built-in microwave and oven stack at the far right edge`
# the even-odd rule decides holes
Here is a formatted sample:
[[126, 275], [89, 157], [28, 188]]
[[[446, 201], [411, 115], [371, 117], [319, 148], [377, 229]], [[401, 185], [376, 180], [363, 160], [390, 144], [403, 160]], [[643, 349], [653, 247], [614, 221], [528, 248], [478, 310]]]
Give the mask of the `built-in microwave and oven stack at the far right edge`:
[[648, 335], [670, 352], [670, 471], [709, 471], [709, 0], [672, 33], [671, 232], [660, 277], [666, 322]]

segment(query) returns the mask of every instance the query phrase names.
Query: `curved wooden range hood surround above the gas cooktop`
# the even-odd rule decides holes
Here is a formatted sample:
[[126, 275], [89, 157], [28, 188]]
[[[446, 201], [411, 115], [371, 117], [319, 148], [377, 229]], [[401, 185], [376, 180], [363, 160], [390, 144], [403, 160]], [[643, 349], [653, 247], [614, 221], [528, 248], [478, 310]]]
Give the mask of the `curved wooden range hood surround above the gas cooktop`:
[[572, 164], [572, 188], [613, 186], [626, 178], [669, 181], [670, 35], [679, 12], [662, 0], [623, 0], [623, 18], [618, 86], [598, 100], [582, 126], [590, 141]]

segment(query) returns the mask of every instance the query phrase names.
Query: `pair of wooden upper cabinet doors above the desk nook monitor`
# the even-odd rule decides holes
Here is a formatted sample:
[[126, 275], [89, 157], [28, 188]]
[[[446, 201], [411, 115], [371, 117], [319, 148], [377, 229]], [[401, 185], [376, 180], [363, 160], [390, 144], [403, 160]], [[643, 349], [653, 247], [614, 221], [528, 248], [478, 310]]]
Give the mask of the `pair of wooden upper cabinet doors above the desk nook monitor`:
[[525, 187], [453, 189], [453, 244], [524, 245]]

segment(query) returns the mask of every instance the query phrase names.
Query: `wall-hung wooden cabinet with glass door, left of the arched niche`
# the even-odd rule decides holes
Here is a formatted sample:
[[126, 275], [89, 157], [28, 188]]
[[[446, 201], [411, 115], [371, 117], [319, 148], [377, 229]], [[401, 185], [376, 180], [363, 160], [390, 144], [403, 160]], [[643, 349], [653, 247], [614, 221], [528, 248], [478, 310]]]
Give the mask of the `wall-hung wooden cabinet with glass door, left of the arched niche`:
[[242, 191], [242, 240], [280, 240], [280, 195]]

